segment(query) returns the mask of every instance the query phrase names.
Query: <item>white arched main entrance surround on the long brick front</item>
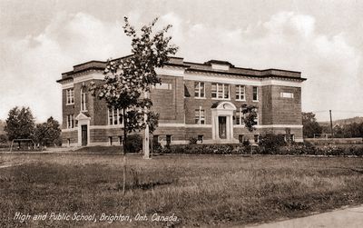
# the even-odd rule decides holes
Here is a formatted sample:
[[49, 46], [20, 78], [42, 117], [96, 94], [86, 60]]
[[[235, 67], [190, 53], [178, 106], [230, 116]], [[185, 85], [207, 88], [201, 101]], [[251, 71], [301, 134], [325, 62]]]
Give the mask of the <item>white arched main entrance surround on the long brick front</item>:
[[231, 102], [218, 102], [211, 106], [211, 135], [216, 142], [232, 142], [233, 111], [236, 106]]

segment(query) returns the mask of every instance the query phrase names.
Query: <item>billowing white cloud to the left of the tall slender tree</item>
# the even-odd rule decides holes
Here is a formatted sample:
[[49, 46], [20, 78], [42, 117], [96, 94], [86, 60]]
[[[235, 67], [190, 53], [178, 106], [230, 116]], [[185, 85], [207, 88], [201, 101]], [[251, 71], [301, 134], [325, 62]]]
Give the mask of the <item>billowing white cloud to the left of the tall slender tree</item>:
[[38, 121], [50, 115], [61, 120], [61, 89], [55, 80], [74, 64], [129, 54], [130, 40], [118, 23], [92, 15], [59, 13], [44, 32], [2, 40], [0, 116], [15, 105], [30, 106]]

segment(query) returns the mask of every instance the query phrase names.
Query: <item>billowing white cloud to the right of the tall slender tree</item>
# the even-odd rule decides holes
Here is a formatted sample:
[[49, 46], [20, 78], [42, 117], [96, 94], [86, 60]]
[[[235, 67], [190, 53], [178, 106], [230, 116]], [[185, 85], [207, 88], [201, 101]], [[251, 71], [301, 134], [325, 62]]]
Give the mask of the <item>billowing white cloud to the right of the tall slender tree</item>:
[[[242, 67], [301, 71], [305, 111], [336, 110], [336, 118], [363, 109], [357, 104], [363, 78], [362, 53], [347, 37], [319, 34], [312, 15], [280, 12], [246, 28], [226, 29], [191, 25], [187, 31], [186, 58], [206, 61], [220, 58]], [[198, 55], [195, 55], [198, 54]], [[349, 111], [349, 112], [347, 112]], [[325, 115], [319, 118], [327, 118]]]

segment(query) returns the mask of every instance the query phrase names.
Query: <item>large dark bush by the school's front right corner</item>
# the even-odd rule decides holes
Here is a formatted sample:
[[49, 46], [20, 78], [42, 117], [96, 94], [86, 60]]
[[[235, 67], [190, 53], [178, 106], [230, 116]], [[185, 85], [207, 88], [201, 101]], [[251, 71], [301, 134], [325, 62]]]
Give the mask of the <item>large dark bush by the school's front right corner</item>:
[[259, 145], [262, 154], [278, 154], [279, 147], [286, 142], [282, 134], [265, 134], [260, 136]]

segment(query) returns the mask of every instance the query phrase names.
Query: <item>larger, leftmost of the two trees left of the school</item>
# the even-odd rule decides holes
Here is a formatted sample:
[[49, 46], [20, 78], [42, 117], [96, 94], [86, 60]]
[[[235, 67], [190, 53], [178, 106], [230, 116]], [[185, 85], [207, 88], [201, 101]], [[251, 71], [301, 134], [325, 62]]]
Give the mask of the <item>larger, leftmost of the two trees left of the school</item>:
[[34, 116], [29, 107], [11, 109], [5, 123], [4, 130], [9, 140], [33, 138]]

